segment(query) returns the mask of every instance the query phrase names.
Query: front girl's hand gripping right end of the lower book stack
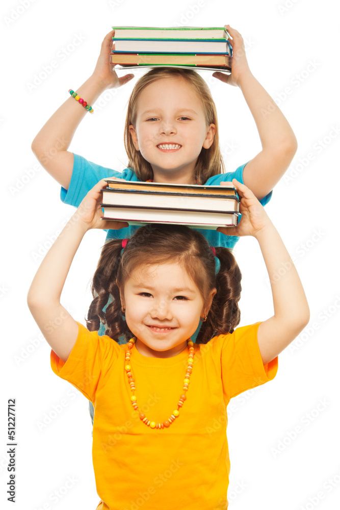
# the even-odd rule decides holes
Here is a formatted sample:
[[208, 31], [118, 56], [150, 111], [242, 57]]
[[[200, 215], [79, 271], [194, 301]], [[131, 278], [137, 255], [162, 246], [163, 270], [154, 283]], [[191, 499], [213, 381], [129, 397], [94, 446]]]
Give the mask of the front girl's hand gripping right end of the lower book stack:
[[232, 184], [236, 187], [241, 200], [240, 213], [242, 213], [242, 218], [236, 227], [219, 227], [217, 231], [226, 236], [257, 237], [266, 227], [273, 224], [263, 206], [247, 186], [239, 183], [236, 179], [232, 180]]

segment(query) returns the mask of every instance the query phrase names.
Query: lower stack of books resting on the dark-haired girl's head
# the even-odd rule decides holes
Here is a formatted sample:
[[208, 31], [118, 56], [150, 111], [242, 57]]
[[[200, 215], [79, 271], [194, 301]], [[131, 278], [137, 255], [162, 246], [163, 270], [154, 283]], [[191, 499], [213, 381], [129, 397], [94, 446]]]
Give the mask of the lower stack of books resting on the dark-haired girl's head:
[[130, 225], [172, 223], [216, 230], [236, 226], [240, 200], [232, 185], [144, 183], [105, 179], [102, 219]]

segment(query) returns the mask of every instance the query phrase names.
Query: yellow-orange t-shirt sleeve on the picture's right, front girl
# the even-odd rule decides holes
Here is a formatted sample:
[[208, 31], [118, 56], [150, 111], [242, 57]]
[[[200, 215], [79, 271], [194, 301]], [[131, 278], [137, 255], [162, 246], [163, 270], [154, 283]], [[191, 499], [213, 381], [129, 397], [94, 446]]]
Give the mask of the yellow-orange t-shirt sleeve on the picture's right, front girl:
[[231, 335], [223, 335], [221, 371], [223, 390], [230, 399], [239, 393], [265, 384], [277, 373], [278, 358], [263, 364], [257, 342], [260, 322], [238, 327]]

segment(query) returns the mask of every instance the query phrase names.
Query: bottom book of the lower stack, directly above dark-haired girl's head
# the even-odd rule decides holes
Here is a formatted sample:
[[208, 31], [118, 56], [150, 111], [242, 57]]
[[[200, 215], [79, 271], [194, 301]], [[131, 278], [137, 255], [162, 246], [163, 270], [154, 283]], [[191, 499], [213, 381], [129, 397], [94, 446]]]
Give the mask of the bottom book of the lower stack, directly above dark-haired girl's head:
[[240, 213], [110, 206], [104, 207], [104, 213], [101, 218], [127, 221], [129, 225], [170, 223], [216, 230], [219, 226], [236, 226], [239, 216]]

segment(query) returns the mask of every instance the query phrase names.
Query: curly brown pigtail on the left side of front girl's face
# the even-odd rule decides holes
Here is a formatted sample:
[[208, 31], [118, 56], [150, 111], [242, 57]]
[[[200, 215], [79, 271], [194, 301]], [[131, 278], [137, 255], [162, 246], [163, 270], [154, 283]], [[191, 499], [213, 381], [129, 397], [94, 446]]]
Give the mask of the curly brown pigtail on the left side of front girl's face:
[[[120, 294], [116, 283], [121, 264], [121, 250], [121, 239], [113, 239], [104, 244], [93, 275], [91, 291], [94, 299], [86, 320], [90, 331], [97, 331], [100, 323], [105, 324], [107, 326], [105, 334], [116, 342], [119, 341], [119, 337], [129, 332], [121, 314]], [[109, 303], [110, 296], [112, 300]], [[106, 310], [103, 310], [105, 307]]]

